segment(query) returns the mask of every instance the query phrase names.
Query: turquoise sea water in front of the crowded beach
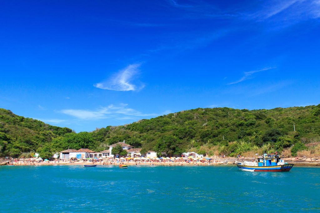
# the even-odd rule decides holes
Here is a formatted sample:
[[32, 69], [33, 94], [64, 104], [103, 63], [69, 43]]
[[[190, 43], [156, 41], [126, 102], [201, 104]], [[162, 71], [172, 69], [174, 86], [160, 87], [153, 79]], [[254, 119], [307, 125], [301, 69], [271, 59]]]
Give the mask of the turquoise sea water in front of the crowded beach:
[[0, 212], [320, 212], [320, 168], [1, 166]]

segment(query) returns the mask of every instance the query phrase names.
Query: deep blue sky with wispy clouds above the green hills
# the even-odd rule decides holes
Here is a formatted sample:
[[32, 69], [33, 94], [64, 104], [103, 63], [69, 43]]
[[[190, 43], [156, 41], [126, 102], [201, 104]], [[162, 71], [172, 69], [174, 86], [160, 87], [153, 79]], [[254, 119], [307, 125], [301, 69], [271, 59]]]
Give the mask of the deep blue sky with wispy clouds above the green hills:
[[319, 104], [320, 1], [1, 1], [0, 108], [76, 132]]

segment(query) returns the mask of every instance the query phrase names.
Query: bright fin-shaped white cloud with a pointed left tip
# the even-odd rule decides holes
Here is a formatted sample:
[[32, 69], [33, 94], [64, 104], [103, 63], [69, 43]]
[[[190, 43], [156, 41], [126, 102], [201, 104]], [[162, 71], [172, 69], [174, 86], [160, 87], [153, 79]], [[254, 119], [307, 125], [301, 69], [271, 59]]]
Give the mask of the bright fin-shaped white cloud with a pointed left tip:
[[108, 80], [94, 84], [94, 87], [100, 89], [116, 90], [116, 91], [130, 91], [140, 90], [144, 87], [144, 84], [135, 85], [133, 81], [140, 73], [140, 64], [132, 64], [120, 70]]

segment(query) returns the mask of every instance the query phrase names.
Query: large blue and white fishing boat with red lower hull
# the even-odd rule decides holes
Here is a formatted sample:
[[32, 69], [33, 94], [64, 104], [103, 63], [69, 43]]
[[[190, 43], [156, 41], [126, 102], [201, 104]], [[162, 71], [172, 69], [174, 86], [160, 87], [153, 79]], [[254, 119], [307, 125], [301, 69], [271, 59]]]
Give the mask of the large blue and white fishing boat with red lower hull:
[[294, 164], [288, 164], [284, 160], [280, 160], [277, 154], [264, 154], [252, 161], [236, 161], [236, 165], [241, 171], [290, 171]]

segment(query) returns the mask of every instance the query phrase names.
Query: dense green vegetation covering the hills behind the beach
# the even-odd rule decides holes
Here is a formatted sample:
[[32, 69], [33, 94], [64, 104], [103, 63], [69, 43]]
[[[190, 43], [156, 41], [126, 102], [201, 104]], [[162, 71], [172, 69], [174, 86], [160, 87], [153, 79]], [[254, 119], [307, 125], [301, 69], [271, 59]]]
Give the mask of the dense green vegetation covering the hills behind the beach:
[[319, 133], [320, 104], [272, 110], [198, 108], [81, 133], [0, 109], [0, 155], [14, 157], [34, 152], [50, 157], [68, 148], [101, 151], [123, 140], [167, 156], [189, 150], [234, 156], [263, 149], [282, 151], [298, 143], [294, 156], [307, 150], [306, 144], [317, 144]]

